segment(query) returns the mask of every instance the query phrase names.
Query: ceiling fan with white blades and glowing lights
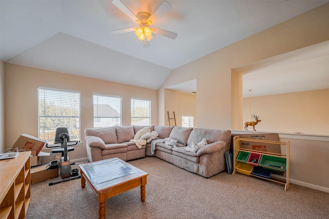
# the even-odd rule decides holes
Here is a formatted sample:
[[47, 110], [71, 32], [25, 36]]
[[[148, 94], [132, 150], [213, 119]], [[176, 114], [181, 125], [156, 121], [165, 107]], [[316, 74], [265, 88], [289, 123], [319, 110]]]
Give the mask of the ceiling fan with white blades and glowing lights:
[[134, 22], [139, 24], [139, 27], [132, 27], [120, 30], [112, 30], [111, 32], [114, 34], [126, 33], [135, 31], [136, 36], [140, 41], [143, 41], [143, 47], [149, 47], [149, 41], [153, 38], [152, 33], [159, 34], [162, 36], [166, 36], [171, 39], [175, 39], [177, 37], [177, 33], [170, 32], [168, 30], [162, 30], [155, 27], [150, 27], [153, 25], [158, 18], [162, 15], [165, 15], [171, 9], [171, 5], [163, 1], [161, 5], [153, 12], [153, 14], [149, 14], [148, 12], [139, 12], [138, 14], [134, 14], [131, 12], [129, 8], [127, 8], [120, 0], [113, 0], [112, 3], [119, 8], [123, 13], [129, 16]]

